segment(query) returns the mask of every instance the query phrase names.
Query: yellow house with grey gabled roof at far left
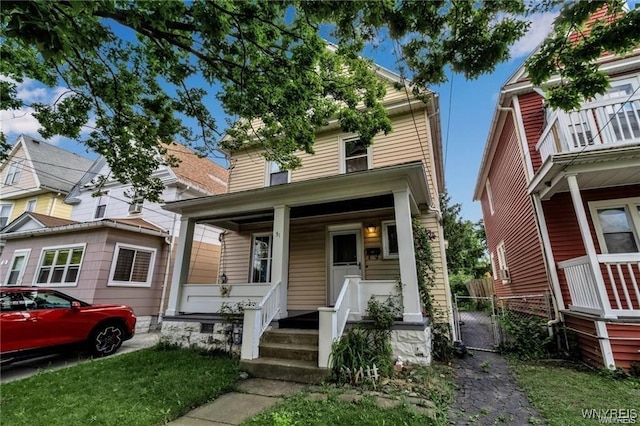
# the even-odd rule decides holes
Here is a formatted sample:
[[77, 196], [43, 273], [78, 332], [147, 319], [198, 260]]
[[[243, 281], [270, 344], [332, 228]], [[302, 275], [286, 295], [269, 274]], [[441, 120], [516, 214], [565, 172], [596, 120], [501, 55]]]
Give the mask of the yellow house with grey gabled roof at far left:
[[20, 135], [0, 164], [0, 229], [24, 212], [69, 219], [63, 201], [93, 161]]

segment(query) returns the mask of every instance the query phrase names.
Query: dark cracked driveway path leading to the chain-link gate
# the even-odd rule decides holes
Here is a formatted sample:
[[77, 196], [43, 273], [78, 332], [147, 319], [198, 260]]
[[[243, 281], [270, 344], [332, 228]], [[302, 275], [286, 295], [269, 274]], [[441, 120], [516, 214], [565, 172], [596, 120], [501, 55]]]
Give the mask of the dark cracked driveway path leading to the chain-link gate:
[[456, 361], [455, 371], [457, 393], [450, 424], [546, 424], [519, 388], [502, 355], [470, 351], [470, 355]]

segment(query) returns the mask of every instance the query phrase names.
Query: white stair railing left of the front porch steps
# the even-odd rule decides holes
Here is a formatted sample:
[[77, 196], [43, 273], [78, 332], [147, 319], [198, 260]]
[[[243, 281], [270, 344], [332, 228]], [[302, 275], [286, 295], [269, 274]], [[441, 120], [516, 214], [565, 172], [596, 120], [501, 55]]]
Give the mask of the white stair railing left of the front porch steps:
[[260, 355], [260, 337], [280, 312], [280, 282], [271, 286], [267, 294], [255, 306], [244, 307], [242, 326], [242, 359], [256, 359]]

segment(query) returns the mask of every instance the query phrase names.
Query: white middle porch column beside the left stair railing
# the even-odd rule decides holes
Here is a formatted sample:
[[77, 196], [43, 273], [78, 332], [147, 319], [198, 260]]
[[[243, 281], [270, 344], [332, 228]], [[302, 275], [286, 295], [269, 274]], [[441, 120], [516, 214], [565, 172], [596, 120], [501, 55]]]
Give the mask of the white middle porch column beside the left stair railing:
[[287, 287], [289, 278], [289, 206], [275, 206], [273, 215], [273, 246], [271, 282], [280, 282], [280, 313], [287, 317]]

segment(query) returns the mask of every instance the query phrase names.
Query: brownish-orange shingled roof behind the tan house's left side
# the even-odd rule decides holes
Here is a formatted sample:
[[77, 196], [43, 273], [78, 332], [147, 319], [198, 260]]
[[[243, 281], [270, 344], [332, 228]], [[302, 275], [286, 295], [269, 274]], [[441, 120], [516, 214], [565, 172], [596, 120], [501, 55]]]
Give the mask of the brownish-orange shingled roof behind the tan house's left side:
[[227, 192], [229, 176], [227, 169], [205, 157], [198, 156], [184, 145], [174, 143], [166, 148], [168, 154], [180, 161], [177, 167], [171, 167], [179, 180], [211, 194]]

